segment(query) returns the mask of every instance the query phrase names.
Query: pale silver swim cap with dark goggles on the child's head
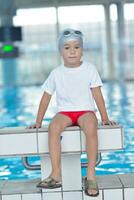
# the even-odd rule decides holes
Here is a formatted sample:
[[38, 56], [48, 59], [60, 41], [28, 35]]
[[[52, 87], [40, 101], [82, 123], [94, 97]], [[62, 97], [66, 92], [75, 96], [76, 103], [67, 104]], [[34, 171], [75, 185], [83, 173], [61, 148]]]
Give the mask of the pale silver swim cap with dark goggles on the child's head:
[[83, 48], [83, 34], [79, 30], [65, 29], [61, 32], [58, 40], [59, 50], [64, 47], [65, 42], [79, 41], [81, 48]]

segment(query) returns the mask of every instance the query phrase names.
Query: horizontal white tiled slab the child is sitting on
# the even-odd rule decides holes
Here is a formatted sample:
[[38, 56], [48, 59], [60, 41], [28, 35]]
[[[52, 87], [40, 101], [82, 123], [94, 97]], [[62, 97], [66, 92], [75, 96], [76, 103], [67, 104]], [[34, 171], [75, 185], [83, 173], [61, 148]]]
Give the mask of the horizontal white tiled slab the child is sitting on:
[[[0, 129], [0, 156], [23, 156], [48, 154], [47, 127], [26, 129], [25, 127]], [[98, 127], [99, 151], [123, 148], [122, 126]], [[62, 133], [62, 153], [85, 151], [85, 136], [79, 127], [69, 127]]]

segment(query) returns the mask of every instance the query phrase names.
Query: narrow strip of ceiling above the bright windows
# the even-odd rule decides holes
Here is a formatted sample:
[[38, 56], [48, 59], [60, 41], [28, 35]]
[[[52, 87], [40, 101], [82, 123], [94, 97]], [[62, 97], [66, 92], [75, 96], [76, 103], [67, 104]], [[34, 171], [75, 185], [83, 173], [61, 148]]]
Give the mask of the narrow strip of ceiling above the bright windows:
[[112, 4], [119, 2], [133, 3], [134, 0], [0, 0], [0, 15], [15, 14], [15, 10], [19, 8]]

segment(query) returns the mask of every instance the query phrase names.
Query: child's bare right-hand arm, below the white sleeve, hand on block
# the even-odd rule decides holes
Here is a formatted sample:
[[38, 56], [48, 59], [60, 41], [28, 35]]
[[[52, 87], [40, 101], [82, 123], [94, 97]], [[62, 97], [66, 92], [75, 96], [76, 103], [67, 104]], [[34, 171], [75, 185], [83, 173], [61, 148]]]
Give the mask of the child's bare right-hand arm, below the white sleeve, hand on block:
[[92, 88], [91, 91], [92, 91], [94, 100], [96, 102], [96, 105], [99, 109], [102, 124], [103, 125], [106, 125], [106, 124], [107, 125], [114, 125], [114, 124], [116, 124], [116, 122], [110, 121], [109, 118], [108, 118], [104, 98], [103, 98], [103, 95], [102, 95], [102, 92], [101, 92], [101, 88], [95, 87], [95, 88]]

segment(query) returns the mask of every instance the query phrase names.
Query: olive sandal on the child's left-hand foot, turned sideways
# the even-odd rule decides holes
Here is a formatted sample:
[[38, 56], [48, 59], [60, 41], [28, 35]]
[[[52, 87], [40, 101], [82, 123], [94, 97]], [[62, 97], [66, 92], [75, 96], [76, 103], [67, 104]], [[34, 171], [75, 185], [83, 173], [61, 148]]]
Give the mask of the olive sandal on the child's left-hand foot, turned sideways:
[[46, 189], [60, 188], [61, 186], [62, 186], [61, 181], [56, 181], [52, 177], [48, 177], [40, 181], [37, 185], [37, 187], [39, 188], [46, 188]]

